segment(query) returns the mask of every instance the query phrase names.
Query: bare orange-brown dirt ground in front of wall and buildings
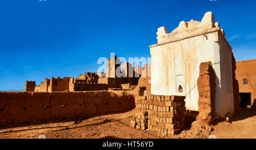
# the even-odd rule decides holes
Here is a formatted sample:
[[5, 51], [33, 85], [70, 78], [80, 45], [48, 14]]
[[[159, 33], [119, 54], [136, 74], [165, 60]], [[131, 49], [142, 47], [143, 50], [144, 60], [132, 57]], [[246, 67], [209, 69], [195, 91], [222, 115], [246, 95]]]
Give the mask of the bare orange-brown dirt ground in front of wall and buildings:
[[[134, 110], [125, 113], [95, 116], [90, 119], [52, 120], [19, 124], [0, 128], [0, 138], [38, 138], [45, 135], [53, 139], [73, 138], [179, 138], [179, 136], [159, 135], [158, 132], [138, 130], [129, 126]], [[189, 134], [184, 131], [183, 134]], [[213, 126], [211, 134], [217, 138], [256, 138], [256, 110], [242, 109], [236, 113], [231, 123], [219, 122]]]

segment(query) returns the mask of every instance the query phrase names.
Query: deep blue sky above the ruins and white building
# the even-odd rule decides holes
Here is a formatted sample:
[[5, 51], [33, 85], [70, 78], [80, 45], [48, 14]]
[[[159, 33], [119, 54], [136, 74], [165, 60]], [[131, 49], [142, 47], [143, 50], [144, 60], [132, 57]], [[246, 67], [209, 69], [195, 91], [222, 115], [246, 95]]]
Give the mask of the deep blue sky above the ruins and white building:
[[237, 61], [256, 59], [256, 2], [0, 1], [0, 90], [24, 89], [26, 80], [96, 72], [100, 57], [150, 57], [158, 27], [201, 21], [212, 11]]

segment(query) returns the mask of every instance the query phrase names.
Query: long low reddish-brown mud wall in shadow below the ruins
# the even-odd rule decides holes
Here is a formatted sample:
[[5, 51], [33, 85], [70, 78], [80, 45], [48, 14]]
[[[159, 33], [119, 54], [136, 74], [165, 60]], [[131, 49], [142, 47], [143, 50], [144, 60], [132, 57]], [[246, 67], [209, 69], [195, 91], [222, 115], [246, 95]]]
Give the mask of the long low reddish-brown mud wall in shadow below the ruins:
[[0, 92], [0, 125], [86, 117], [130, 110], [134, 107], [134, 97], [125, 92]]

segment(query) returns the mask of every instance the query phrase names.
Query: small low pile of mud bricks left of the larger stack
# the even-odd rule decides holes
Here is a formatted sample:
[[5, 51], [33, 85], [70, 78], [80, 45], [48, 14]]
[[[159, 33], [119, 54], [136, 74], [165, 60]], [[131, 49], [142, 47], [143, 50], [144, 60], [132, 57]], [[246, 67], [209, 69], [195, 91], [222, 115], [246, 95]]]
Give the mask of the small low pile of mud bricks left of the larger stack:
[[133, 120], [130, 123], [131, 127], [146, 130], [148, 126], [148, 114], [147, 111], [141, 111], [135, 113]]

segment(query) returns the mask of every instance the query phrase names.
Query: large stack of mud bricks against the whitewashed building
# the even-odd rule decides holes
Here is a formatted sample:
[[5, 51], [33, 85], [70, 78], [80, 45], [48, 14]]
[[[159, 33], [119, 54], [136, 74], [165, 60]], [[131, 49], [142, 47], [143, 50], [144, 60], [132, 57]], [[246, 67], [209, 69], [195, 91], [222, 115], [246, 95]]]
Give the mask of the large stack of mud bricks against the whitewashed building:
[[148, 130], [175, 135], [185, 128], [185, 97], [146, 95], [139, 97], [136, 107], [148, 112]]

